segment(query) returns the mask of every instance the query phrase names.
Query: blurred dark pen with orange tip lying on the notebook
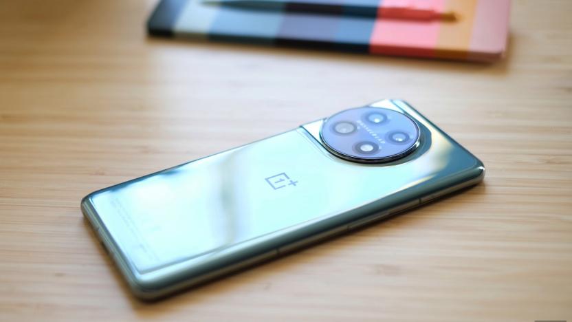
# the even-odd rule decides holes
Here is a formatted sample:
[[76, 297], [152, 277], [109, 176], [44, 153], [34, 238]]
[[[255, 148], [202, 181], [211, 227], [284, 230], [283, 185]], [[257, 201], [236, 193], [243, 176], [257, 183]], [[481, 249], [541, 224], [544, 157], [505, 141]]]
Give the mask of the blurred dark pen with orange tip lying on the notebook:
[[[318, 0], [319, 1], [319, 0]], [[317, 13], [317, 14], [347, 14], [358, 17], [375, 18], [380, 15], [387, 19], [406, 20], [454, 20], [454, 12], [442, 12], [431, 6], [415, 6], [412, 1], [384, 1], [390, 2], [381, 6], [368, 6], [366, 4], [340, 4], [327, 3], [316, 0], [203, 0], [206, 4], [218, 4], [248, 10], [281, 11], [284, 8], [289, 12]], [[426, 2], [423, 2], [426, 4]]]

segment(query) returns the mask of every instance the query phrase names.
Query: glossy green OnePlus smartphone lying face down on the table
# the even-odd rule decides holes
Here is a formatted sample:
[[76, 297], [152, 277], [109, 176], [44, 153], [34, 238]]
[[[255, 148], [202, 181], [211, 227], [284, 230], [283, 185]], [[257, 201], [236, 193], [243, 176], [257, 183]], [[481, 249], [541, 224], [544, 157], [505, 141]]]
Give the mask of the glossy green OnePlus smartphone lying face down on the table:
[[117, 184], [83, 214], [157, 299], [481, 182], [483, 163], [402, 100]]

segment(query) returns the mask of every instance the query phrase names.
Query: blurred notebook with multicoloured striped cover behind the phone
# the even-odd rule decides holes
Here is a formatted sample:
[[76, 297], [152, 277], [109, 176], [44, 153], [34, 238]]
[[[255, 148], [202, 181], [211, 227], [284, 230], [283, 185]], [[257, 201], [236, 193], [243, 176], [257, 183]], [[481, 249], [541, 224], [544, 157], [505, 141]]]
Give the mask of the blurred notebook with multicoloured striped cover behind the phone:
[[245, 10], [201, 0], [162, 0], [148, 20], [148, 32], [268, 45], [325, 47], [369, 54], [390, 54], [467, 61], [496, 61], [507, 47], [510, 0], [431, 1], [452, 11], [455, 21], [415, 21], [355, 17], [345, 3], [387, 5], [400, 0], [332, 0], [341, 14]]

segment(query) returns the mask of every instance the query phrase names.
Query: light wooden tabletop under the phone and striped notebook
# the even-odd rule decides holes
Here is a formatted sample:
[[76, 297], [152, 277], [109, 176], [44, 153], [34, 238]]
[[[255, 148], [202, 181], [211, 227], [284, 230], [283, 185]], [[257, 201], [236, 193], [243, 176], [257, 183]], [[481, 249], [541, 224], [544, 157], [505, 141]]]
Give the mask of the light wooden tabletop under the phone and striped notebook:
[[[154, 1], [0, 2], [0, 320], [572, 321], [572, 1], [515, 0], [494, 65], [148, 39]], [[405, 98], [485, 183], [158, 303], [80, 198]]]

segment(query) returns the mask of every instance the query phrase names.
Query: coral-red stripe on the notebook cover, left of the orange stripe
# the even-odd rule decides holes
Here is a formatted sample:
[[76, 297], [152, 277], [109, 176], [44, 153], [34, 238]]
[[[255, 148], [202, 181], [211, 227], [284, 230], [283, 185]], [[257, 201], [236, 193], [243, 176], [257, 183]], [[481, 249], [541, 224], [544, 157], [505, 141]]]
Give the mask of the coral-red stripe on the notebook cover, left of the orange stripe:
[[[382, 12], [384, 6], [400, 6], [402, 3], [402, 0], [380, 1], [378, 18], [371, 34], [370, 52], [372, 54], [433, 57], [442, 22], [439, 20], [384, 19]], [[431, 3], [437, 11], [443, 11], [445, 7], [445, 0], [434, 0]]]

